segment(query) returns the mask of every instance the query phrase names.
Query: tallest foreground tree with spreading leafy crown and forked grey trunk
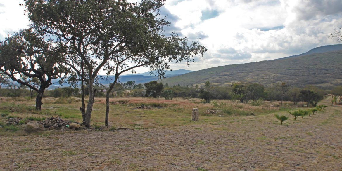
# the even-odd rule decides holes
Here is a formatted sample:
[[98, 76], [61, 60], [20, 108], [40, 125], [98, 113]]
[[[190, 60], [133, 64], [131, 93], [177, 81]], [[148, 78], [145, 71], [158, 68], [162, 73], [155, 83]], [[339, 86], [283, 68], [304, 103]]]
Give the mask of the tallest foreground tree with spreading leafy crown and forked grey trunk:
[[[132, 69], [127, 63], [133, 63], [134, 67], [153, 64], [152, 68], [162, 66], [161, 69], [167, 69], [164, 59], [177, 62], [184, 60], [173, 58], [178, 56], [170, 56], [165, 53], [167, 50], [180, 54], [186, 54], [188, 50], [191, 54], [198, 52], [196, 48], [193, 49], [198, 43], [188, 45], [185, 39], [178, 38], [176, 34], [172, 34], [170, 38], [160, 36], [162, 30], [158, 31], [156, 28], [168, 25], [165, 18], [157, 17], [163, 1], [142, 0], [140, 3], [131, 3], [126, 0], [25, 0], [32, 26], [68, 44], [69, 53], [74, 54], [75, 58], [70, 58], [71, 62], [67, 62], [67, 65], [72, 67], [75, 59], [82, 62], [76, 63], [78, 67], [72, 68], [79, 75], [82, 73], [78, 68], [84, 68], [84, 75], [88, 76], [86, 81], [89, 100], [84, 114], [85, 126], [90, 127], [95, 91], [93, 83], [101, 68], [105, 67], [108, 74], [115, 73], [114, 86], [121, 73]], [[161, 48], [165, 45], [163, 42], [169, 42], [165, 51], [153, 51], [152, 47], [164, 49]], [[177, 43], [180, 46], [176, 46]], [[205, 50], [203, 46], [198, 47]]]

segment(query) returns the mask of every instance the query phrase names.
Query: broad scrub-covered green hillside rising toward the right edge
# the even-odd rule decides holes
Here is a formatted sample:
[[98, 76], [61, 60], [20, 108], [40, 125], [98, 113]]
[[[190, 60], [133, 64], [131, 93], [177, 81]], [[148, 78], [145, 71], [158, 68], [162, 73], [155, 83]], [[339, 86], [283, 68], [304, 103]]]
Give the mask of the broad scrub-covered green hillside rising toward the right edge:
[[[167, 78], [163, 82], [182, 86], [203, 85], [206, 81], [212, 85], [253, 82], [267, 86], [285, 81], [292, 86], [310, 84], [329, 88], [342, 85], [342, 51], [335, 51], [336, 47], [341, 46], [318, 47], [306, 55], [203, 69]], [[333, 52], [325, 52], [329, 49]]]

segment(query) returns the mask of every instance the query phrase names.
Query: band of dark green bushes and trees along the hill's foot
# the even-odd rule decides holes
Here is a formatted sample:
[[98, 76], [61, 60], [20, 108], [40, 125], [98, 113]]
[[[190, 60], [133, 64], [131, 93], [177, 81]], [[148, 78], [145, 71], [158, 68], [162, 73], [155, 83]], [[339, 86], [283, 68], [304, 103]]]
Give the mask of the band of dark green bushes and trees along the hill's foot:
[[[95, 86], [95, 97], [105, 97], [108, 87]], [[0, 89], [2, 97], [30, 96], [30, 92], [23, 87]], [[36, 92], [34, 92], [35, 95]], [[203, 102], [212, 99], [230, 99], [234, 104], [251, 103], [258, 104], [259, 101], [292, 101], [294, 105], [316, 106], [327, 94], [332, 95], [332, 104], [340, 104], [342, 101], [342, 86], [334, 87], [331, 91], [319, 87], [307, 85], [305, 87], [291, 87], [285, 82], [265, 87], [257, 83], [234, 83], [229, 86], [211, 86], [206, 82], [205, 86], [183, 87], [180, 85], [169, 86], [167, 83], [151, 81], [143, 84], [135, 84], [134, 81], [116, 84], [110, 92], [110, 97], [154, 97], [154, 98], [201, 98]], [[84, 95], [89, 95], [89, 89], [84, 86]], [[48, 90], [44, 97], [80, 97], [79, 88], [63, 87]], [[32, 96], [31, 96], [32, 97]]]

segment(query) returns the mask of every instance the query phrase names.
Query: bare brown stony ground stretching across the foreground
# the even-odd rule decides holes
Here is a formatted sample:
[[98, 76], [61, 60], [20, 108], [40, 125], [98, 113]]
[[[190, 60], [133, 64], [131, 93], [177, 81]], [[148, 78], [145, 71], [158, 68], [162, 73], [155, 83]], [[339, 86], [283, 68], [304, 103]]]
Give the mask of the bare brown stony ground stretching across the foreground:
[[265, 114], [170, 128], [2, 136], [0, 170], [342, 170], [341, 116], [342, 108], [329, 106], [283, 125]]

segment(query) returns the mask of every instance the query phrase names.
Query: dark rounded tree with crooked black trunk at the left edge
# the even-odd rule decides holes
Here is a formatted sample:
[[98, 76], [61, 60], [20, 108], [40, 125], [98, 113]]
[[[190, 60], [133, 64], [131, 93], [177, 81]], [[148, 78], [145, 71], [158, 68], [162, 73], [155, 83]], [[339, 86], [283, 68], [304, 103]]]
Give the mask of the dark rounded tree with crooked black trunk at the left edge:
[[[61, 65], [65, 53], [62, 46], [45, 41], [33, 29], [22, 30], [0, 43], [0, 71], [18, 84], [37, 91], [36, 110], [41, 110], [43, 93], [51, 81], [66, 72]], [[39, 84], [17, 79], [17, 75], [36, 78]]]

